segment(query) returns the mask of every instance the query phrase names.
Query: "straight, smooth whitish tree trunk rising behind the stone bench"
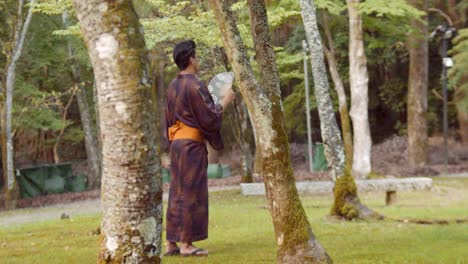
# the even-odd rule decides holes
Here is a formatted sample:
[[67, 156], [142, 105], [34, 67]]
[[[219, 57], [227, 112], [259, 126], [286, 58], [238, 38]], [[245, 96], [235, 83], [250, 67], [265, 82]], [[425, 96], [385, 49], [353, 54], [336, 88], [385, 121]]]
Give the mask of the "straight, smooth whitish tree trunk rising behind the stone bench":
[[365, 178], [371, 172], [372, 139], [368, 117], [368, 82], [366, 53], [359, 14], [360, 0], [346, 0], [349, 15], [349, 80], [353, 120], [354, 150], [352, 175]]

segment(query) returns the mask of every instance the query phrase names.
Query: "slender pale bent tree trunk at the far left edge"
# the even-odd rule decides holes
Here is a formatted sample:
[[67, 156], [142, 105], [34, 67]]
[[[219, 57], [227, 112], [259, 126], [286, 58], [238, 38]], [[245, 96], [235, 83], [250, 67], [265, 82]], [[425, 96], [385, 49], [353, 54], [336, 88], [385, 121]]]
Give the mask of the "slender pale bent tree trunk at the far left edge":
[[[26, 20], [23, 24], [22, 9], [23, 0], [18, 1], [18, 17], [16, 22], [15, 37], [13, 40], [14, 46], [11, 54], [11, 60], [7, 67], [6, 76], [6, 102], [4, 104], [4, 126], [3, 132], [5, 139], [3, 140], [4, 150], [4, 174], [5, 177], [5, 206], [6, 208], [14, 208], [16, 200], [19, 198], [18, 185], [16, 183], [15, 170], [14, 170], [14, 150], [13, 150], [13, 131], [12, 131], [12, 115], [13, 115], [13, 90], [15, 88], [16, 80], [16, 64], [21, 56], [24, 46], [26, 33], [28, 32], [31, 18], [33, 15], [33, 5], [36, 0], [29, 1], [29, 10]], [[5, 159], [6, 158], [6, 159]]]

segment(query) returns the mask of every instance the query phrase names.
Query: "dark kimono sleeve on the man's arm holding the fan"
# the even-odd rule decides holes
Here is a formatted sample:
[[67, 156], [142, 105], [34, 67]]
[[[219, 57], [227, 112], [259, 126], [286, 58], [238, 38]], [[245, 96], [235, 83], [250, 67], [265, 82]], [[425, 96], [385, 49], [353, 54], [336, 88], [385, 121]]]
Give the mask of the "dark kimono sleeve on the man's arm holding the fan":
[[213, 98], [206, 86], [196, 81], [187, 91], [188, 105], [201, 130], [203, 137], [216, 149], [223, 149], [221, 138], [221, 124], [223, 119], [223, 108], [213, 102]]

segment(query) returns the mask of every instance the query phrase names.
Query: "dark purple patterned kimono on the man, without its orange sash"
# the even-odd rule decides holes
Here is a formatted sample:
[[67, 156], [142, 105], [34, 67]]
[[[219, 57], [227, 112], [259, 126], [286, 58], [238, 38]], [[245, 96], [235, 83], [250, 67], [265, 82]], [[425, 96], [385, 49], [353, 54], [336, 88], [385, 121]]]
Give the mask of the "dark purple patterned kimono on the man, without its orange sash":
[[213, 148], [223, 148], [222, 107], [194, 75], [178, 75], [167, 91], [166, 140], [171, 158], [171, 184], [166, 214], [167, 240], [193, 242], [208, 237], [208, 158], [205, 143], [190, 139], [169, 142], [176, 121], [198, 128]]

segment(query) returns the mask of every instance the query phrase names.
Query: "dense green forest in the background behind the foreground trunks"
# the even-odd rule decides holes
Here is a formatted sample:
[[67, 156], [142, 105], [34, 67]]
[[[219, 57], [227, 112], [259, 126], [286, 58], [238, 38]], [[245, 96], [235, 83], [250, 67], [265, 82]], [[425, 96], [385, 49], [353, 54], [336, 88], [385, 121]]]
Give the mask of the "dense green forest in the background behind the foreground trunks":
[[[254, 44], [248, 29], [249, 16], [245, 3], [233, 2], [238, 27], [255, 65]], [[307, 131], [302, 49], [305, 32], [299, 3], [291, 0], [266, 2], [281, 81], [287, 134], [290, 142], [305, 143]], [[409, 2], [426, 2], [427, 7], [431, 8], [432, 11], [427, 13], [429, 32], [443, 24], [447, 17], [458, 29], [458, 35], [449, 47], [455, 66], [449, 72], [448, 120], [450, 137], [466, 144], [468, 30], [464, 28], [468, 24], [468, 3], [455, 0], [401, 0], [391, 3], [367, 0], [360, 4], [369, 76], [368, 111], [372, 141], [377, 144], [395, 134], [407, 134], [408, 79], [411, 77], [407, 38], [411, 34], [417, 34], [412, 27], [412, 20], [422, 20], [424, 15], [424, 12]], [[178, 41], [191, 38], [197, 42], [199, 57], [202, 59], [201, 79], [209, 81], [214, 74], [231, 70], [224, 54], [219, 29], [207, 3], [135, 0], [134, 4], [145, 29], [147, 47], [150, 48], [153, 66], [151, 76], [160, 108], [155, 114], [163, 112], [161, 106], [164, 105], [165, 88], [177, 73], [170, 54]], [[26, 1], [23, 14], [20, 15], [17, 5], [16, 1], [0, 1], [0, 23], [7, 25], [0, 29], [2, 112], [6, 106], [4, 87], [7, 86], [8, 67], [15, 51], [16, 31], [21, 28], [22, 16], [26, 16], [29, 10]], [[322, 39], [325, 46], [329, 47], [330, 43], [334, 45], [337, 70], [350, 105], [350, 40], [346, 4], [344, 1], [322, 0], [317, 1], [317, 6]], [[34, 6], [28, 34], [15, 70], [12, 132], [16, 167], [82, 160], [87, 157], [82, 113], [89, 113], [90, 124], [96, 124], [99, 117], [95, 111], [92, 67], [73, 12], [71, 3], [67, 1], [42, 0], [37, 1]], [[428, 58], [427, 134], [437, 136], [442, 133], [442, 59], [440, 43], [436, 38], [428, 39]], [[310, 91], [313, 140], [321, 141], [317, 105], [313, 89]], [[336, 117], [340, 120], [338, 96], [334, 89], [330, 92]], [[83, 100], [86, 104], [83, 104]], [[241, 130], [238, 129], [238, 123], [239, 116], [242, 115], [239, 109], [233, 107], [226, 113], [223, 136], [228, 147], [238, 145]], [[2, 128], [3, 124], [5, 123], [2, 122]], [[88, 129], [98, 135], [95, 125]], [[5, 145], [3, 142], [5, 141], [2, 140], [2, 146]]]

